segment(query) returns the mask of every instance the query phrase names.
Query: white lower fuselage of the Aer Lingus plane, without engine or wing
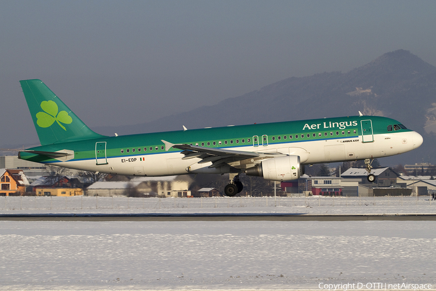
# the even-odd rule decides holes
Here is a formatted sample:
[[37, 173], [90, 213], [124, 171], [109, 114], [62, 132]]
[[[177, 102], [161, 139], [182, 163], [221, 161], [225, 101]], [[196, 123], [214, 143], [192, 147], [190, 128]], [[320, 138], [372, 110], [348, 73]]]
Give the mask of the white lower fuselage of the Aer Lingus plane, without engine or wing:
[[[239, 151], [281, 153], [297, 155], [301, 164], [354, 161], [387, 157], [408, 152], [422, 144], [415, 131], [374, 134], [374, 141], [362, 142], [357, 138], [326, 139], [259, 146], [241, 146]], [[223, 147], [223, 149], [226, 149]], [[130, 157], [108, 158], [107, 164], [97, 165], [96, 160], [56, 162], [55, 165], [85, 171], [112, 173], [127, 176], [171, 176], [189, 173], [225, 173], [225, 169], [209, 168], [211, 162], [198, 164], [201, 159], [182, 160], [180, 152], [165, 152]], [[254, 165], [254, 164], [253, 164]]]

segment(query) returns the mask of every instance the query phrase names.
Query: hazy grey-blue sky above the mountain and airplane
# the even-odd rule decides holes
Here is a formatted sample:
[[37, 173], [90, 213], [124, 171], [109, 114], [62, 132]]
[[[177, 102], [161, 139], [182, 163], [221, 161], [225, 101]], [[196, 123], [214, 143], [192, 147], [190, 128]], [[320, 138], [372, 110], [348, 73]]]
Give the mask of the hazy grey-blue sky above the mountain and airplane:
[[396, 49], [436, 65], [435, 13], [433, 0], [0, 0], [0, 145], [37, 141], [19, 80], [41, 79], [91, 128], [137, 124]]

